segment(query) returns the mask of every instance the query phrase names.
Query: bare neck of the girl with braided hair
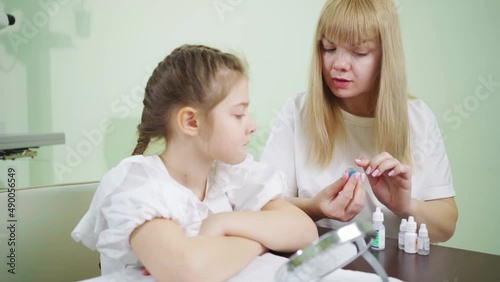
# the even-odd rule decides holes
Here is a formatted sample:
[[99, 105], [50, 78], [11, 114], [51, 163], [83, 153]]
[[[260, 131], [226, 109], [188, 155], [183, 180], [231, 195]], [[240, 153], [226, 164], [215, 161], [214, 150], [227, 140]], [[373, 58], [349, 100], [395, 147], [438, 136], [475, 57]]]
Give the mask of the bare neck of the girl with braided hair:
[[200, 200], [205, 198], [208, 173], [212, 160], [207, 160], [193, 147], [186, 144], [170, 143], [160, 155], [172, 178], [190, 189]]

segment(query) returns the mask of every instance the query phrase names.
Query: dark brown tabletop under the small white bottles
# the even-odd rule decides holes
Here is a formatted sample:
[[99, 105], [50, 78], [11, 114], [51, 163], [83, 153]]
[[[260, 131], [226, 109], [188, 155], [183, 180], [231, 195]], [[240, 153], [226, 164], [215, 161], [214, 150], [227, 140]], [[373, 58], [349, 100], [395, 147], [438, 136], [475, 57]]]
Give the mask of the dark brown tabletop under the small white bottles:
[[[318, 228], [320, 234], [330, 229]], [[431, 245], [430, 254], [407, 254], [398, 248], [397, 239], [386, 238], [385, 250], [370, 252], [379, 260], [387, 275], [404, 281], [500, 281], [500, 256]], [[344, 269], [374, 273], [359, 257]]]

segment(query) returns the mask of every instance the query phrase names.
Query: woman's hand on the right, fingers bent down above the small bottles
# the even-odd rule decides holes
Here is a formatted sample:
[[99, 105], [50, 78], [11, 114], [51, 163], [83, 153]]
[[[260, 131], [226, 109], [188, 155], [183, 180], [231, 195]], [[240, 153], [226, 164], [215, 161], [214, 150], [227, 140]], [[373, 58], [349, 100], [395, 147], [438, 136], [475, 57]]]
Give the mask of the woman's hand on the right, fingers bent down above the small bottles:
[[377, 199], [397, 215], [412, 214], [411, 170], [407, 165], [383, 152], [371, 160], [354, 160], [362, 167]]

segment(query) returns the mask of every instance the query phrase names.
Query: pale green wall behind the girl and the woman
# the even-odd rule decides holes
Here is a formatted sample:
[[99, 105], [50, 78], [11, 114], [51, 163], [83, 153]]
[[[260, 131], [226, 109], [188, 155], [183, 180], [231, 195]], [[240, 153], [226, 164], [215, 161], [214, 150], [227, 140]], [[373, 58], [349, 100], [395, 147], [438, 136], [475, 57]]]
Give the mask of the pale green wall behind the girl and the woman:
[[[0, 1], [16, 16], [0, 31], [0, 130], [64, 132], [35, 159], [0, 161], [19, 187], [98, 180], [130, 154], [143, 88], [184, 43], [245, 56], [258, 158], [281, 105], [306, 90], [324, 1]], [[500, 255], [500, 1], [401, 0], [409, 86], [441, 125], [460, 218], [445, 245]]]

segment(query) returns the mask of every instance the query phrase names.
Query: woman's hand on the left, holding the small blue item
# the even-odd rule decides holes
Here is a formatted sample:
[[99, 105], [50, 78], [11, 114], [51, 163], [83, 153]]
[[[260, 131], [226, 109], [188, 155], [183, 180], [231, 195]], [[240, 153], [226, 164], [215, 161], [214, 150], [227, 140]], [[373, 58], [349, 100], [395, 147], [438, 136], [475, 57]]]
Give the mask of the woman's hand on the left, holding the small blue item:
[[365, 205], [364, 180], [364, 174], [357, 172], [349, 176], [346, 171], [342, 178], [326, 186], [313, 198], [319, 210], [317, 218], [353, 219]]

